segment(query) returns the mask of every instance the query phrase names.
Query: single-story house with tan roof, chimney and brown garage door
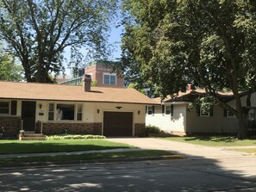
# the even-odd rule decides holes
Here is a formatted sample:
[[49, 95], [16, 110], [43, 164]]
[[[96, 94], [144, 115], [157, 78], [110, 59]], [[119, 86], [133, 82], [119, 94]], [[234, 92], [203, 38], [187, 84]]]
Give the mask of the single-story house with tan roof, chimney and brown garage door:
[[[146, 105], [155, 104], [134, 89], [0, 82], [0, 129], [16, 137], [20, 129], [62, 133], [140, 136]], [[0, 130], [0, 132], [1, 132]]]

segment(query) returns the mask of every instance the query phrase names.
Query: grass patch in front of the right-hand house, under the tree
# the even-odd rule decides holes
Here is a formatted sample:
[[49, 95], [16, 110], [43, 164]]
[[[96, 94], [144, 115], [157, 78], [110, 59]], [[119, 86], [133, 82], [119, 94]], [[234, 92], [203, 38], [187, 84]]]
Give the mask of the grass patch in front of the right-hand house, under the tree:
[[185, 142], [201, 146], [256, 146], [256, 139], [239, 140], [234, 137], [168, 137], [172, 141]]

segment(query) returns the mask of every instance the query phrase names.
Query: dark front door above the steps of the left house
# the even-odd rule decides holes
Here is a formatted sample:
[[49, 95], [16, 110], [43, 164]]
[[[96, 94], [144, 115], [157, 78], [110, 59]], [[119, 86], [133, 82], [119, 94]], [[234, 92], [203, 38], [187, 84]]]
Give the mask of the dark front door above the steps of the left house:
[[22, 120], [25, 131], [34, 131], [35, 102], [22, 102]]

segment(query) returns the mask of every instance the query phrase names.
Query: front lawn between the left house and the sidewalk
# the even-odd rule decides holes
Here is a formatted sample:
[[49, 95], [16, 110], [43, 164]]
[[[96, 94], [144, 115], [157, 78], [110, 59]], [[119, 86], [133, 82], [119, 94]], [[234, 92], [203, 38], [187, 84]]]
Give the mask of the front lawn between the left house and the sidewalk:
[[1, 140], [0, 154], [37, 152], [79, 152], [116, 148], [131, 148], [125, 144], [103, 139], [63, 139], [63, 140]]

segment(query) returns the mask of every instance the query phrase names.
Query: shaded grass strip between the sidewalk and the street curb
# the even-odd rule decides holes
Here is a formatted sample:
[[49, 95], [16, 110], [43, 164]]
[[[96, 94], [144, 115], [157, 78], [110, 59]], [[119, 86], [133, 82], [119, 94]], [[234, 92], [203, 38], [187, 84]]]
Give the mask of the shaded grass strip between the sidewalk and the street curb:
[[22, 163], [34, 163], [34, 162], [71, 162], [71, 161], [88, 161], [88, 160], [101, 160], [101, 159], [133, 159], [133, 158], [153, 158], [153, 157], [168, 157], [168, 158], [183, 158], [179, 155], [172, 155], [170, 152], [159, 150], [147, 150], [136, 152], [97, 152], [83, 155], [61, 155], [61, 156], [47, 156], [47, 157], [31, 157], [31, 158], [2, 158], [0, 159], [0, 165], [4, 164], [22, 164]]

